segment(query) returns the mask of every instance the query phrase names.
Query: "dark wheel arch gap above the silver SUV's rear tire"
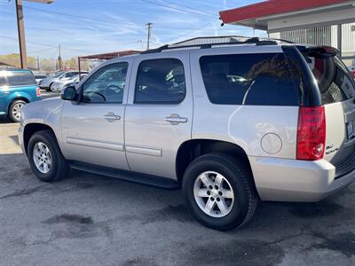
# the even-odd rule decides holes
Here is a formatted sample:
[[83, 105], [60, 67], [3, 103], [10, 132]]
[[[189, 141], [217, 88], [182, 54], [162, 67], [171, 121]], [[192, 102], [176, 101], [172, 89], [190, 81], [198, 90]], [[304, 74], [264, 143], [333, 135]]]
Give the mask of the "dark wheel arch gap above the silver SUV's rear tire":
[[[252, 170], [248, 155], [240, 145], [231, 142], [214, 140], [214, 139], [190, 139], [181, 144], [177, 150], [176, 173], [177, 181], [181, 184], [185, 169], [191, 161], [207, 153], [227, 153], [232, 155], [236, 160], [240, 160], [250, 171]], [[254, 177], [252, 182], [255, 186]]]

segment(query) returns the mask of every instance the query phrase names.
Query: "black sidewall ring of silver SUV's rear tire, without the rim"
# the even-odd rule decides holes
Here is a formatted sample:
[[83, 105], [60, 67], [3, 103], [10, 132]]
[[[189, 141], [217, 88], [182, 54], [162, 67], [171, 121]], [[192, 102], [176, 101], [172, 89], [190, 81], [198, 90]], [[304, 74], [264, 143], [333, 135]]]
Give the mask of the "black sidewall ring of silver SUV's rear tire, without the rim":
[[[245, 175], [243, 169], [236, 169], [239, 174]], [[197, 176], [205, 171], [215, 171], [225, 176], [231, 184], [234, 193], [234, 202], [232, 210], [228, 215], [223, 217], [212, 217], [205, 214], [197, 205], [193, 195], [193, 184]], [[183, 191], [187, 204], [193, 211], [193, 215], [195, 215], [200, 223], [210, 228], [222, 231], [232, 229], [233, 227], [240, 225], [248, 213], [248, 193], [245, 191], [245, 187], [241, 183], [238, 174], [235, 173], [232, 168], [227, 167], [220, 161], [200, 160], [198, 162], [193, 162], [190, 167], [186, 169], [183, 180]]]

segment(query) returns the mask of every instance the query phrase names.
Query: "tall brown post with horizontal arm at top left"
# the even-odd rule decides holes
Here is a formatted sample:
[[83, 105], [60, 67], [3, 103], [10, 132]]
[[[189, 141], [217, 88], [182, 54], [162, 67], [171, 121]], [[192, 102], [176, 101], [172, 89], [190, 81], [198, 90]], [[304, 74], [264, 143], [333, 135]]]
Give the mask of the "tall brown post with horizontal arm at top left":
[[[54, 0], [25, 0], [43, 4], [51, 4]], [[26, 52], [25, 27], [23, 23], [22, 0], [16, 0], [17, 28], [19, 33], [21, 68], [28, 68], [28, 55]]]

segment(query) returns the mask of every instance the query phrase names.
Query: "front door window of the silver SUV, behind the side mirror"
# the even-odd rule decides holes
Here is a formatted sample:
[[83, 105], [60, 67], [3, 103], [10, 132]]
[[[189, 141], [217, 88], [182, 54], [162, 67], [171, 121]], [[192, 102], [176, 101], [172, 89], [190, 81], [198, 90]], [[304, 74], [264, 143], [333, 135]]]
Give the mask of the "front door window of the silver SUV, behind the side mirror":
[[83, 83], [83, 102], [121, 104], [127, 69], [127, 62], [100, 68]]

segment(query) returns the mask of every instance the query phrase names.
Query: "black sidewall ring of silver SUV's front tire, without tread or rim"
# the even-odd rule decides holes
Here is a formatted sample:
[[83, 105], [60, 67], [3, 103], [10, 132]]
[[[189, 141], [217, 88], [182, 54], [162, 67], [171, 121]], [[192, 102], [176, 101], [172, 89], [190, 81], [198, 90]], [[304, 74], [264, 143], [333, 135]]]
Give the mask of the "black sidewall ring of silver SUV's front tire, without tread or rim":
[[[38, 142], [43, 142], [43, 144], [48, 147], [51, 153], [51, 169], [48, 173], [45, 174], [36, 168], [36, 164], [33, 159], [34, 146]], [[33, 137], [30, 138], [28, 142], [28, 161], [33, 172], [39, 179], [45, 182], [54, 181], [57, 177], [57, 172], [58, 172], [58, 160], [59, 160], [59, 154], [56, 152], [56, 149], [52, 144], [52, 141], [48, 139], [48, 137], [44, 137], [42, 134], [36, 133]]]

